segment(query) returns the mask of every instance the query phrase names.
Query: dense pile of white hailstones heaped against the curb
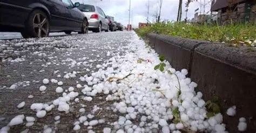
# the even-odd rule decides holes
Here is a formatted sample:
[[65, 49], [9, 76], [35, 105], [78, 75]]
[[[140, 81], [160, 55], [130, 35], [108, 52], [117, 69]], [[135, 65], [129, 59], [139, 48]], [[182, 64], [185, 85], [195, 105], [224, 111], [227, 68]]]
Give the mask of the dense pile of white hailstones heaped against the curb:
[[[91, 76], [80, 77], [82, 82], [87, 82], [82, 90], [83, 100], [93, 102], [96, 94], [104, 93], [107, 95], [106, 101], [119, 101], [114, 102], [111, 109], [122, 115], [119, 116], [118, 121], [109, 123], [112, 129], [104, 128], [104, 132], [111, 132], [111, 130], [119, 133], [151, 132], [154, 129], [174, 133], [181, 131], [227, 132], [225, 124], [222, 123], [221, 114], [207, 118], [203, 94], [194, 91], [197, 84], [186, 77], [188, 73], [186, 69], [176, 71], [164, 61], [167, 64], [164, 72], [154, 70], [154, 66], [160, 63], [158, 55], [154, 50], [146, 48], [145, 43], [139, 40], [137, 35], [134, 35], [133, 43], [128, 47], [133, 53], [127, 50], [126, 55], [114, 56], [109, 62], [103, 64], [104, 67], [109, 67], [99, 69]], [[144, 60], [138, 63], [140, 58]], [[57, 80], [51, 82], [63, 84]], [[77, 87], [82, 86], [78, 84]], [[41, 90], [45, 89], [45, 87], [41, 88]], [[56, 88], [57, 93], [63, 94], [50, 106], [33, 104], [31, 109], [37, 111], [37, 117], [44, 117], [46, 111], [49, 112], [55, 107], [59, 112], [68, 113], [70, 101], [75, 99], [79, 102], [79, 93], [74, 92], [73, 87], [69, 88], [69, 93], [63, 91], [61, 87]], [[176, 119], [172, 113], [174, 109], [178, 109], [178, 120], [174, 120]], [[227, 114], [235, 115], [235, 107], [228, 109]], [[24, 119], [24, 116], [22, 117]], [[81, 117], [84, 118], [84, 116]], [[245, 119], [241, 118], [239, 121], [239, 130], [246, 130]], [[88, 122], [76, 122], [74, 130], [79, 130], [79, 124], [85, 123]]]

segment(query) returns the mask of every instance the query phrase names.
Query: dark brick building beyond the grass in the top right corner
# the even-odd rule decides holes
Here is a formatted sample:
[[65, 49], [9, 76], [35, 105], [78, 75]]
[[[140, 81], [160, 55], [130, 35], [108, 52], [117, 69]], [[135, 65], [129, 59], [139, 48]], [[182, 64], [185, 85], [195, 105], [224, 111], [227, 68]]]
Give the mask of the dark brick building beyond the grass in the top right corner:
[[218, 12], [217, 21], [220, 24], [233, 23], [256, 23], [255, 0], [214, 0], [211, 11]]

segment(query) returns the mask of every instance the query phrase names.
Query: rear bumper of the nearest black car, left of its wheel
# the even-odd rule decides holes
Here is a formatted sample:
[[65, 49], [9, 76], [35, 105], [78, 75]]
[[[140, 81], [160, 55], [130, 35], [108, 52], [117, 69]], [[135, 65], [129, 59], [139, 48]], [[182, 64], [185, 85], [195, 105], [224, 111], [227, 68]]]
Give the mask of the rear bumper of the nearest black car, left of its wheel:
[[[0, 2], [0, 31], [19, 32], [32, 9]], [[4, 27], [4, 28], [3, 28]]]

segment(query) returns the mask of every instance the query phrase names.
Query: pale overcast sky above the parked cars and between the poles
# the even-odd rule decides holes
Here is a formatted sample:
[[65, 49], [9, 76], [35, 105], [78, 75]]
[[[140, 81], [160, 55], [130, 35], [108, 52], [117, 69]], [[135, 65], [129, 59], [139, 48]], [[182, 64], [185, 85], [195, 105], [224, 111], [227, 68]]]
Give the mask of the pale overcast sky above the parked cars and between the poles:
[[[80, 2], [84, 4], [95, 4], [103, 9], [106, 15], [113, 16], [114, 19], [123, 25], [127, 25], [129, 21], [129, 0], [72, 0], [73, 2]], [[159, 7], [159, 0], [131, 0], [131, 24], [133, 27], [138, 27], [139, 22], [146, 23], [147, 18], [147, 4], [150, 5], [149, 20], [155, 21], [154, 17]], [[194, 10], [201, 5], [201, 12], [203, 13], [204, 0], [199, 2], [192, 2], [189, 5], [187, 17], [191, 19], [194, 17]], [[205, 0], [205, 12], [210, 11], [210, 1]], [[183, 14], [182, 18], [185, 19], [185, 2], [183, 0]], [[179, 0], [163, 0], [161, 9], [161, 20], [176, 20], [178, 12]]]

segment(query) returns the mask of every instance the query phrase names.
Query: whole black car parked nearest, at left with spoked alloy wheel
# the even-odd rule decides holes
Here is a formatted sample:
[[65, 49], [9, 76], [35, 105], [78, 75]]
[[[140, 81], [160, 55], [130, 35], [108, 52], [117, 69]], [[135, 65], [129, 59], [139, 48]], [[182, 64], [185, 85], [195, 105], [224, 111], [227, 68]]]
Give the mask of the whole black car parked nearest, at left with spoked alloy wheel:
[[21, 32], [24, 38], [41, 38], [49, 32], [88, 32], [88, 21], [70, 0], [2, 0], [0, 31]]

